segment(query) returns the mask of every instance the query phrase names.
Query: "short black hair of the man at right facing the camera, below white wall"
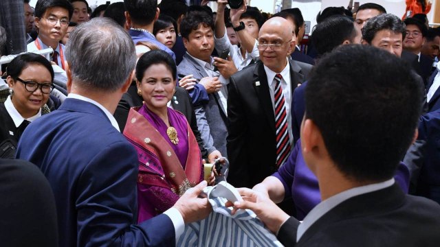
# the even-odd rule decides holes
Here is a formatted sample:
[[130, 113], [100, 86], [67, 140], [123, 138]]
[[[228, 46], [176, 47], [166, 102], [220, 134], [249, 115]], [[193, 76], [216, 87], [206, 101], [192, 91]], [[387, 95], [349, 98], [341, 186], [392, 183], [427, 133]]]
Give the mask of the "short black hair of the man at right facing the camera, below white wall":
[[380, 14], [366, 21], [362, 27], [362, 38], [371, 45], [376, 33], [381, 30], [390, 30], [396, 34], [401, 33], [401, 39], [406, 36], [405, 24], [394, 14]]

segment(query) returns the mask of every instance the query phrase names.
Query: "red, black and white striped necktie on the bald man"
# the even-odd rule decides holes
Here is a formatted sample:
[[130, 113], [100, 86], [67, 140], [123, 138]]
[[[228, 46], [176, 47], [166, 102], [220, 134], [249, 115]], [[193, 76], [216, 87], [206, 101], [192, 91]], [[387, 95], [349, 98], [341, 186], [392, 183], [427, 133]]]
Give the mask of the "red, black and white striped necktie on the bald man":
[[284, 104], [283, 89], [281, 87], [281, 76], [275, 75], [275, 129], [276, 129], [276, 167], [280, 167], [290, 154], [289, 132], [287, 131], [287, 111]]

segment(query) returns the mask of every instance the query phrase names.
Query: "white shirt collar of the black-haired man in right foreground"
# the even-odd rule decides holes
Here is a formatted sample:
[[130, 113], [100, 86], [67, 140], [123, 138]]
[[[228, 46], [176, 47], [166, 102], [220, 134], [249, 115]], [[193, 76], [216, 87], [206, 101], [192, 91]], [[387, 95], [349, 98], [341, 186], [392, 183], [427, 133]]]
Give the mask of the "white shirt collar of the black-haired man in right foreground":
[[341, 193], [338, 193], [335, 196], [331, 196], [330, 198], [323, 200], [307, 214], [307, 216], [303, 220], [303, 223], [301, 223], [298, 226], [298, 231], [296, 233], [296, 242], [298, 243], [300, 238], [303, 237], [305, 231], [307, 231], [307, 229], [311, 225], [313, 225], [317, 220], [319, 220], [320, 217], [322, 217], [322, 215], [325, 215], [331, 209], [338, 206], [338, 204], [340, 204], [341, 202], [344, 202], [345, 200], [349, 200], [350, 198], [353, 198], [355, 196], [362, 195], [364, 193], [370, 193], [373, 191], [384, 189], [386, 187], [390, 187], [394, 183], [395, 183], [394, 178], [391, 178], [390, 180], [386, 180], [381, 183], [364, 185], [346, 191], [342, 191]]

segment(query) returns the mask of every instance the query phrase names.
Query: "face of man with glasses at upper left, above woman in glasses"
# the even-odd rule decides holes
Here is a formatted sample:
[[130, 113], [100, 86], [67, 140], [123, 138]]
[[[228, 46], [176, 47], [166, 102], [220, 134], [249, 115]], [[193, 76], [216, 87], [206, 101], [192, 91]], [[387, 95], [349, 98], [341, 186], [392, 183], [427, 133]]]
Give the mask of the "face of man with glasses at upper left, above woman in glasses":
[[[54, 18], [57, 21], [52, 24], [47, 20], [48, 18]], [[68, 24], [69, 11], [61, 7], [48, 8], [41, 18], [35, 18], [35, 25], [39, 28], [39, 38], [46, 45], [60, 42], [67, 32], [67, 25], [62, 25], [58, 20], [65, 20]]]

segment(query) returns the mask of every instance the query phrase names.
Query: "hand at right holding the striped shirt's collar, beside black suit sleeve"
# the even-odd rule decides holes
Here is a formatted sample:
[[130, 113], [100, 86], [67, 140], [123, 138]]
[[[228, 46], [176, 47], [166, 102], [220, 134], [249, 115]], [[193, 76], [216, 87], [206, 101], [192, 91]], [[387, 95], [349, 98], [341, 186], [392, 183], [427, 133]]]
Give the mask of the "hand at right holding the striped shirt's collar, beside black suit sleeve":
[[281, 210], [272, 200], [263, 194], [248, 188], [239, 188], [242, 202], [234, 202], [232, 214], [237, 209], [250, 209], [265, 224], [265, 226], [276, 234], [284, 222], [289, 219], [289, 215]]

